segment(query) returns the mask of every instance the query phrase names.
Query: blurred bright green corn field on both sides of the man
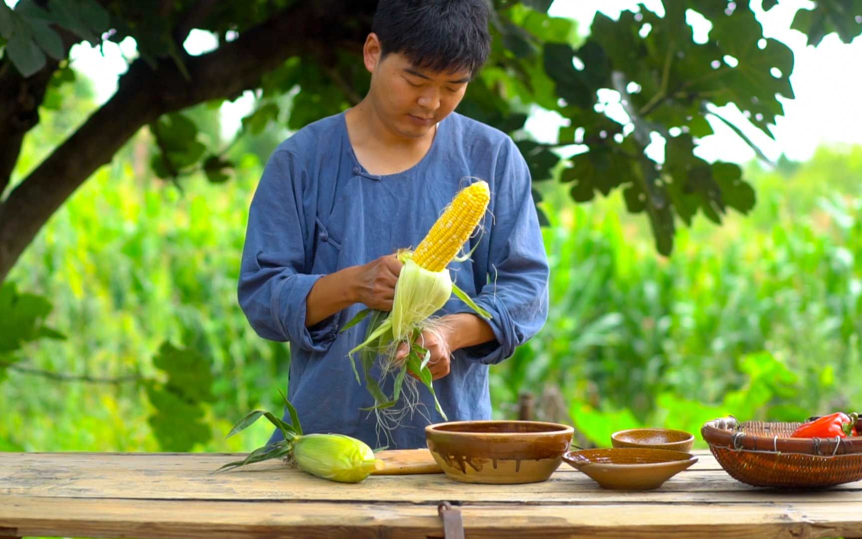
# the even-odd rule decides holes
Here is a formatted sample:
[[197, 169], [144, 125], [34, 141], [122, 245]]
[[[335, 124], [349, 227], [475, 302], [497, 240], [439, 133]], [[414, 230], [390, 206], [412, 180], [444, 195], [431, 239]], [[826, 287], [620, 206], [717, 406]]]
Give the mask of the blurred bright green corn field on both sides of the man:
[[[19, 177], [87, 109], [85, 85], [69, 91], [63, 113], [47, 112], [28, 138]], [[194, 114], [217, 138], [215, 112]], [[66, 338], [31, 342], [0, 370], [0, 450], [248, 451], [265, 441], [263, 423], [223, 438], [254, 407], [280, 410], [287, 384], [286, 346], [255, 335], [235, 299], [247, 207], [284, 135], [232, 147], [224, 184], [199, 174], [173, 185], [153, 177], [141, 133], [53, 216], [9, 281], [47, 298], [47, 322]], [[540, 335], [492, 367], [497, 416], [515, 417], [528, 392], [535, 417], [608, 445], [615, 429], [640, 425], [699, 432], [727, 414], [859, 410], [862, 147], [746, 172], [753, 213], [720, 227], [698, 216], [670, 258], [621, 193], [574, 205], [559, 182], [538, 184], [552, 310]]]

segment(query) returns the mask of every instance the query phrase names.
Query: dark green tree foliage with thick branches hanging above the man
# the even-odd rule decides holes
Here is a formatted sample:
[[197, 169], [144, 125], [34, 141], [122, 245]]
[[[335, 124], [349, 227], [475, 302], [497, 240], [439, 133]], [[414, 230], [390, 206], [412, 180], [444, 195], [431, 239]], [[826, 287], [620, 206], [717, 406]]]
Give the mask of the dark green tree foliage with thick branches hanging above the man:
[[[762, 8], [777, 3], [764, 0]], [[0, 3], [0, 282], [53, 212], [141, 128], [153, 136], [150, 167], [159, 177], [182, 185], [184, 175], [201, 171], [224, 183], [234, 166], [228, 148], [203, 136], [206, 127], [191, 107], [216, 108], [255, 91], [254, 110], [237, 135], [243, 138], [278, 122], [301, 128], [357, 103], [369, 81], [359, 54], [375, 4], [19, 0], [13, 9]], [[730, 209], [752, 210], [755, 192], [739, 166], [696, 155], [699, 140], [712, 133], [710, 121], [727, 123], [751, 144], [746, 126], [716, 107], [734, 103], [771, 136], [784, 112], [781, 99], [793, 97], [793, 54], [764, 36], [751, 3], [665, 0], [661, 13], [644, 6], [617, 20], [599, 13], [586, 38], [586, 28], [548, 16], [550, 4], [494, 1], [490, 60], [459, 111], [513, 135], [534, 182], [559, 178], [575, 202], [622, 190], [628, 211], [647, 217], [661, 254], [671, 254], [680, 222], [690, 225], [700, 213], [721, 223]], [[706, 41], [695, 41], [693, 13], [711, 24]], [[218, 46], [188, 53], [184, 42], [193, 28], [215, 34]], [[792, 28], [811, 45], [830, 33], [849, 42], [862, 33], [862, 0], [810, 3], [797, 11]], [[138, 56], [129, 60], [115, 95], [26, 175], [16, 171], [40, 111], [63, 109], [60, 89], [75, 79], [71, 47], [128, 37]], [[610, 112], [617, 103], [623, 115]], [[556, 143], [532, 140], [524, 129], [537, 107], [568, 123]], [[665, 141], [660, 162], [646, 151], [656, 137]], [[43, 298], [9, 284], [0, 290], [0, 311], [15, 313], [0, 320], [0, 335], [7, 335], [0, 337], [0, 375], [19, 358], [23, 342], [62, 337], [44, 325], [49, 309]], [[184, 379], [170, 367], [174, 362], [187, 364], [194, 379]], [[145, 379], [153, 431], [166, 448], [190, 448], [209, 437], [207, 428], [194, 423], [177, 438], [174, 423], [199, 417], [200, 403], [212, 399], [201, 389], [211, 385], [208, 360], [166, 343], [155, 363], [164, 373]]]

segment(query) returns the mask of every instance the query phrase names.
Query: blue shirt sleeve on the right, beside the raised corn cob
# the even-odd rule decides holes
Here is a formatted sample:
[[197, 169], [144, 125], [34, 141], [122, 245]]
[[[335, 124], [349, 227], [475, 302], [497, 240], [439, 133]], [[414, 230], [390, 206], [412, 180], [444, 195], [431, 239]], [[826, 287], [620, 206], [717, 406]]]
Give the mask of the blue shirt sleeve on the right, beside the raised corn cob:
[[[496, 176], [492, 187], [497, 191], [492, 193], [494, 216], [485, 231], [490, 235], [489, 282], [473, 299], [490, 313], [491, 319], [485, 322], [497, 338], [462, 351], [468, 359], [488, 365], [509, 358], [516, 347], [538, 333], [547, 320], [548, 310], [547, 255], [533, 202], [530, 172], [510, 139]], [[454, 312], [475, 314], [460, 301]]]

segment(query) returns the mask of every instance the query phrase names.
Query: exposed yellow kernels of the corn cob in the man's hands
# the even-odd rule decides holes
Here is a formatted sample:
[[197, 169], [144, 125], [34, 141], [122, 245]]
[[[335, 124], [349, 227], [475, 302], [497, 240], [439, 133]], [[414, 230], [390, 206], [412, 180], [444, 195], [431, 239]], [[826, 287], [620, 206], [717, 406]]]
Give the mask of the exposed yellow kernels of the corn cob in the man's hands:
[[482, 220], [489, 201], [487, 182], [478, 181], [459, 191], [416, 248], [413, 261], [431, 272], [443, 270]]

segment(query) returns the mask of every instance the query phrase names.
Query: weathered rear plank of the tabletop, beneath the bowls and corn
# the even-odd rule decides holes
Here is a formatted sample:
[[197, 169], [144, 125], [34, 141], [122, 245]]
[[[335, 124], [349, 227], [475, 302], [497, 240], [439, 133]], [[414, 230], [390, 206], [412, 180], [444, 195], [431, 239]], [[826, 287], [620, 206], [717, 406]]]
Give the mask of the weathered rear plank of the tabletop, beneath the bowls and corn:
[[[113, 457], [0, 454], [0, 495], [55, 498], [136, 498], [209, 500], [290, 500], [380, 502], [432, 502], [440, 499], [473, 504], [521, 502], [533, 505], [608, 503], [746, 502], [771, 503], [862, 498], [862, 482], [826, 491], [775, 492], [755, 489], [715, 470], [679, 473], [657, 491], [614, 492], [597, 486], [582, 473], [558, 472], [552, 479], [528, 485], [465, 485], [442, 474], [375, 476], [357, 485], [336, 484], [299, 472], [278, 461], [245, 469], [212, 473], [234, 455], [207, 461], [207, 467], [179, 465], [179, 461], [211, 458], [174, 455], [153, 460], [153, 467], [122, 466], [123, 455]], [[146, 458], [142, 459], [146, 460]], [[141, 461], [141, 459], [139, 459]], [[210, 466], [211, 465], [211, 466]]]

